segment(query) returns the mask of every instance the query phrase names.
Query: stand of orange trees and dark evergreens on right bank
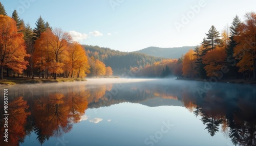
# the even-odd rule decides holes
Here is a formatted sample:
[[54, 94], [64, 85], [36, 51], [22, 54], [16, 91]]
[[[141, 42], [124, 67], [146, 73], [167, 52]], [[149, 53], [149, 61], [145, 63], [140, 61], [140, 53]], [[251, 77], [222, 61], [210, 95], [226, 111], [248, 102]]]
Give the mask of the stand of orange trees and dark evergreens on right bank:
[[244, 17], [241, 21], [236, 15], [221, 33], [211, 26], [201, 45], [184, 55], [182, 75], [256, 80], [256, 14], [250, 12]]

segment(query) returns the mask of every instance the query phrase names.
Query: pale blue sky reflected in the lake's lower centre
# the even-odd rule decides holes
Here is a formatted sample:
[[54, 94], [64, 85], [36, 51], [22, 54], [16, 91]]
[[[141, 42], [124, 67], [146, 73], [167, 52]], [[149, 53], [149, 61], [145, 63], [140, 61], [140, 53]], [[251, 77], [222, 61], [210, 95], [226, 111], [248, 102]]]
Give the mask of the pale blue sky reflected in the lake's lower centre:
[[[90, 122], [100, 119], [97, 124]], [[68, 142], [64, 143], [66, 145], [146, 145], [144, 140], [161, 131], [163, 122], [168, 123], [168, 120], [174, 126], [154, 145], [232, 145], [221, 132], [211, 137], [200, 117], [184, 107], [147, 107], [132, 103], [87, 109], [86, 116], [73, 125], [71, 132], [59, 138], [51, 137], [43, 145], [63, 145], [63, 140]], [[21, 145], [35, 143], [39, 145], [32, 134]]]

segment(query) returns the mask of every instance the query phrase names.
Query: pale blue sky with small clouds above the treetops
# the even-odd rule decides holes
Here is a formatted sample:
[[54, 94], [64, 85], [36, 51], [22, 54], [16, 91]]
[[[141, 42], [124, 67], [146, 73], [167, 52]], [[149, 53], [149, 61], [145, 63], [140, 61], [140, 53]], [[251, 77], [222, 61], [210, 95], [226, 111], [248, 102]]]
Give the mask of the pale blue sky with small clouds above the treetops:
[[[234, 16], [256, 12], [256, 1], [2, 0], [11, 16], [17, 10], [35, 27], [38, 17], [53, 28], [70, 32], [81, 44], [132, 52], [148, 46], [178, 47], [200, 44], [214, 25], [222, 31]], [[183, 21], [182, 21], [183, 20]]]

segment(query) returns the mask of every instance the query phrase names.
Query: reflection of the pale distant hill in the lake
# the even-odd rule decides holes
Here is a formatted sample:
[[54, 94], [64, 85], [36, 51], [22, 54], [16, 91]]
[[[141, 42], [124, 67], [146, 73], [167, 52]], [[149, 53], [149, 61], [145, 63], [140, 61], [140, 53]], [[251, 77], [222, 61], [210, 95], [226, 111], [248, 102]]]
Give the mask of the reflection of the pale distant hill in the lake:
[[148, 107], [157, 107], [157, 106], [184, 106], [180, 101], [173, 99], [162, 99], [154, 98], [146, 101], [139, 102], [139, 104], [148, 106]]

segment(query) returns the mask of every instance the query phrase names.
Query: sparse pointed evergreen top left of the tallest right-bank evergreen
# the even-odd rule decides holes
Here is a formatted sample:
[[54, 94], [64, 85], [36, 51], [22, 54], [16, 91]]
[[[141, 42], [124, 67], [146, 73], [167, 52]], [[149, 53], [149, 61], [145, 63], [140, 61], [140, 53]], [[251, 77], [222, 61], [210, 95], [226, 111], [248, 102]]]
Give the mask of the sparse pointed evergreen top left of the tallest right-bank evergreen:
[[217, 45], [221, 44], [220, 32], [216, 30], [215, 26], [211, 26], [206, 36], [209, 47], [212, 51], [216, 48]]

